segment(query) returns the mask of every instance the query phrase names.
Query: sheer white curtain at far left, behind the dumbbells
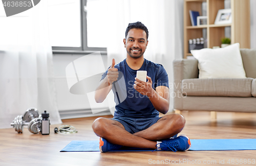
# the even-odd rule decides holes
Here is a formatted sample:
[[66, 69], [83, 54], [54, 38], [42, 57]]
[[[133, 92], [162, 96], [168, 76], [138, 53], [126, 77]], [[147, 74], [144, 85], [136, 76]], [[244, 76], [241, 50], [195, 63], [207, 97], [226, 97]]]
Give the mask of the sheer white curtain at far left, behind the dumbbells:
[[30, 107], [60, 124], [53, 82], [47, 1], [14, 16], [0, 8], [0, 128]]

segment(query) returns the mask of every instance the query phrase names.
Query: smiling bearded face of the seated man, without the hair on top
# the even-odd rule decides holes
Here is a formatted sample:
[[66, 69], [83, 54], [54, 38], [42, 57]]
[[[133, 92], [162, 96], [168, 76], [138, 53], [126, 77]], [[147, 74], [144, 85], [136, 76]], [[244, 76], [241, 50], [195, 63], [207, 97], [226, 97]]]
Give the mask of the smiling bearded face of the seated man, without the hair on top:
[[135, 59], [143, 56], [147, 42], [146, 32], [135, 28], [128, 32], [126, 39], [123, 39], [127, 54]]

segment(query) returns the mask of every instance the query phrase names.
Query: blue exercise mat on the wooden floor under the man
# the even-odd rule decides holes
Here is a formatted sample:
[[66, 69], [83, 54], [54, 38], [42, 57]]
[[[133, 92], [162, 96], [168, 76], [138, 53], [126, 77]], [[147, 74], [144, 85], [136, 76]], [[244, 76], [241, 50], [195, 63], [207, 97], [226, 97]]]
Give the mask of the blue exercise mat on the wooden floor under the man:
[[[190, 139], [191, 151], [256, 150], [256, 139]], [[123, 147], [115, 151], [153, 151]], [[99, 140], [72, 140], [60, 152], [99, 152]]]

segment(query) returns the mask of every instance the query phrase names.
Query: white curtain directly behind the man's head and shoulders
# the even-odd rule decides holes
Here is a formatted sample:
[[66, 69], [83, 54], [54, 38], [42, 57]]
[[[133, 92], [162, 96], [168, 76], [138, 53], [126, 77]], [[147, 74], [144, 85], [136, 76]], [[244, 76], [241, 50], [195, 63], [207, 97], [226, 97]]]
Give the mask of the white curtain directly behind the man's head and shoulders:
[[173, 60], [183, 55], [183, 0], [109, 0], [108, 64], [126, 58], [123, 39], [130, 22], [141, 21], [148, 29], [144, 58], [166, 69], [173, 109]]

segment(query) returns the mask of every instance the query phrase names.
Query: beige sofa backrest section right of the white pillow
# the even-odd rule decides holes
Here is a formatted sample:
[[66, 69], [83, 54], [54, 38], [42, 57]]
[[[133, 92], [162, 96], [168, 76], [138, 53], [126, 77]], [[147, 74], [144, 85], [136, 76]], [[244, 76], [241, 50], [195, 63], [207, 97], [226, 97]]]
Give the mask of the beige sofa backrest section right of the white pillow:
[[240, 49], [246, 77], [256, 78], [256, 49]]

